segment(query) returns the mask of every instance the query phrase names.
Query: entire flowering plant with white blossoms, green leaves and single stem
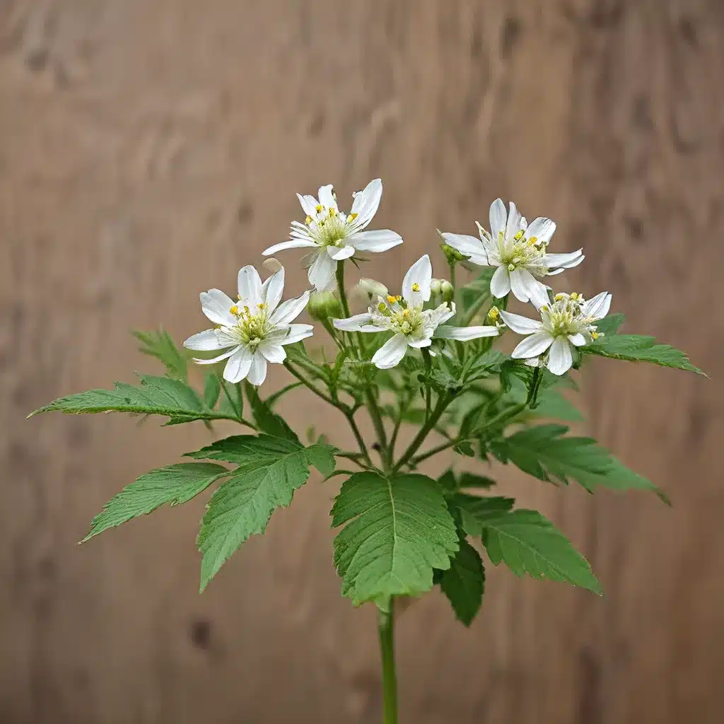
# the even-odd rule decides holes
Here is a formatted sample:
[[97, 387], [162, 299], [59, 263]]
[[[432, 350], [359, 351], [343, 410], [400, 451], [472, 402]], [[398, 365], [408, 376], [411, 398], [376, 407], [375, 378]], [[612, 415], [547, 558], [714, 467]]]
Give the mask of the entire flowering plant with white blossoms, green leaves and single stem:
[[[513, 464], [553, 484], [575, 481], [589, 492], [648, 489], [666, 500], [593, 439], [544, 420], [580, 419], [561, 392], [575, 389], [571, 371], [592, 355], [703, 373], [652, 337], [619, 334], [623, 315], [609, 313], [607, 292], [591, 298], [552, 292], [547, 277], [580, 264], [582, 251], [549, 253], [555, 224], [542, 217], [528, 224], [515, 204], [506, 211], [500, 199], [490, 207], [489, 231], [478, 224], [479, 237], [441, 234], [449, 279], [433, 278], [424, 254], [399, 290], [361, 279], [348, 298], [345, 261], [358, 265], [363, 253], [403, 243], [390, 230], [367, 230], [381, 196], [382, 182], [371, 181], [355, 194], [349, 214], [340, 211], [331, 185], [322, 186], [318, 198], [299, 196], [304, 222], [292, 222], [290, 239], [264, 253], [311, 250], [303, 263], [313, 291], [282, 301], [285, 270], [271, 258], [264, 282], [253, 266], [240, 269], [236, 299], [218, 289], [201, 292], [201, 311], [214, 327], [183, 346], [209, 370], [203, 389], [190, 384], [188, 355], [166, 332], [137, 332], [141, 350], [164, 363], [164, 376], [140, 375], [137, 384], [61, 397], [37, 412], [118, 411], [165, 417], [168, 425], [203, 421], [212, 428], [230, 420], [246, 428], [188, 452], [192, 462], [141, 475], [96, 515], [84, 539], [215, 485], [198, 534], [202, 591], [240, 544], [264, 532], [274, 510], [290, 505], [312, 467], [325, 480], [343, 476], [332, 506], [332, 526], [340, 529], [334, 565], [342, 594], [379, 609], [384, 720], [390, 723], [397, 721], [398, 597], [439, 586], [468, 626], [484, 593], [481, 550], [492, 565], [504, 563], [518, 576], [600, 593], [589, 564], [547, 518], [490, 494], [495, 483], [481, 474], [484, 463]], [[458, 267], [476, 266], [482, 269], [470, 282], [455, 281]], [[534, 319], [508, 311], [511, 293], [531, 303]], [[364, 303], [355, 314], [353, 299]], [[319, 327], [295, 321], [305, 310], [329, 334], [333, 358], [308, 346]], [[508, 330], [523, 335], [510, 354], [493, 348]], [[269, 363], [285, 366], [292, 382], [262, 397]], [[327, 435], [301, 442], [275, 409], [297, 388], [341, 413], [355, 450], [337, 447], [340, 441]], [[371, 419], [374, 441], [358, 426], [361, 413]], [[400, 445], [403, 426], [414, 429], [408, 445]], [[437, 479], [420, 471], [447, 450], [468, 458], [473, 471], [451, 467]]]

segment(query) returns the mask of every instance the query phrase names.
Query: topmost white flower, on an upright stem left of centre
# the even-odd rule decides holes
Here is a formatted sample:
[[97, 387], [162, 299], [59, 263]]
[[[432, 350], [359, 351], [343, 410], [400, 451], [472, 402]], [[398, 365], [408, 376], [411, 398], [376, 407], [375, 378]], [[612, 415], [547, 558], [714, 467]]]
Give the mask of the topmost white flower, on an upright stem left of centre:
[[297, 194], [307, 215], [304, 223], [292, 222], [292, 238], [270, 246], [263, 252], [264, 256], [284, 249], [313, 249], [304, 264], [309, 268], [309, 282], [318, 292], [323, 292], [334, 287], [337, 261], [350, 258], [358, 251], [377, 253], [403, 243], [402, 237], [389, 229], [363, 231], [382, 198], [381, 180], [370, 181], [353, 197], [352, 210], [344, 214], [337, 207], [337, 195], [331, 184], [319, 189], [319, 199]]

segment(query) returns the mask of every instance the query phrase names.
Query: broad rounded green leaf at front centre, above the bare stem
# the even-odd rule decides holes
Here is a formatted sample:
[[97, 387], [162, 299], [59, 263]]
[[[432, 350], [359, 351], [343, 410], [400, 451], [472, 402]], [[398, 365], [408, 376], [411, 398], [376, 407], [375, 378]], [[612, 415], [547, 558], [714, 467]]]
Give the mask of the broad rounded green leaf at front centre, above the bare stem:
[[432, 588], [433, 569], [450, 568], [455, 522], [437, 481], [418, 474], [348, 478], [332, 508], [334, 565], [355, 605]]

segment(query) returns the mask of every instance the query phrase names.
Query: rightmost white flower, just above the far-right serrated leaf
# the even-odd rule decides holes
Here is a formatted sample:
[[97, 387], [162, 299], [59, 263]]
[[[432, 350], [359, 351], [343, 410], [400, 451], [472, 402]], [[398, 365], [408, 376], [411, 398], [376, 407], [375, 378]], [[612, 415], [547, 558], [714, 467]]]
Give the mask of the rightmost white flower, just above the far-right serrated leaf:
[[[502, 310], [500, 316], [513, 332], [530, 335], [513, 350], [513, 358], [524, 359], [533, 367], [547, 366], [553, 374], [561, 375], [571, 369], [572, 348], [583, 347], [600, 336], [594, 323], [607, 315], [610, 306], [608, 292], [588, 301], [573, 292], [557, 294], [552, 304], [542, 306], [541, 321]], [[539, 358], [544, 353], [547, 361]]]

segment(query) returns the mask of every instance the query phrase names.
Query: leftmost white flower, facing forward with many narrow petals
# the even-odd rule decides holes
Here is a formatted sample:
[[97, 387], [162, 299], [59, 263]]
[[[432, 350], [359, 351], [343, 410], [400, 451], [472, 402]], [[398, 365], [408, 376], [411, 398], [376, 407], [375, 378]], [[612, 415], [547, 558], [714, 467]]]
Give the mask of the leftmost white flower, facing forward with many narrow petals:
[[282, 363], [287, 357], [284, 345], [311, 337], [311, 324], [290, 324], [307, 306], [309, 292], [279, 304], [284, 292], [284, 268], [261, 283], [253, 266], [239, 270], [239, 300], [232, 301], [221, 290], [201, 292], [201, 310], [218, 324], [216, 329], [189, 337], [183, 345], [190, 350], [227, 350], [213, 359], [194, 359], [199, 364], [229, 361], [224, 379], [248, 379], [259, 385], [266, 379], [266, 363]]

